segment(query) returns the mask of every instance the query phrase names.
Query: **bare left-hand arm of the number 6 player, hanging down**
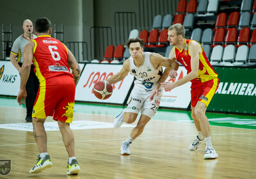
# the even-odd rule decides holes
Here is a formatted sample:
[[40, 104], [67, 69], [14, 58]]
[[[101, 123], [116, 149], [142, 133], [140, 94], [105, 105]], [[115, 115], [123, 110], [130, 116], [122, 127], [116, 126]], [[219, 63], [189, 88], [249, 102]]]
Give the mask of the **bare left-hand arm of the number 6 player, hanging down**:
[[31, 41], [24, 47], [24, 56], [23, 56], [24, 62], [20, 69], [20, 91], [19, 91], [19, 94], [17, 95], [17, 102], [19, 103], [19, 105], [24, 104], [24, 102], [22, 102], [21, 99], [23, 100], [26, 99], [26, 84], [28, 81], [31, 63], [34, 56], [33, 54], [34, 45], [35, 43]]

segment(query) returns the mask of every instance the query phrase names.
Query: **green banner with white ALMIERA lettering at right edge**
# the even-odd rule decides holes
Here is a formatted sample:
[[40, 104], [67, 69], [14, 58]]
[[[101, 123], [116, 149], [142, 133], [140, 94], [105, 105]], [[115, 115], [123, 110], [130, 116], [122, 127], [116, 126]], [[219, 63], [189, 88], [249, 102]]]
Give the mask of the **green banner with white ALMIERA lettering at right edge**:
[[256, 113], [256, 68], [216, 67], [220, 84], [208, 111]]

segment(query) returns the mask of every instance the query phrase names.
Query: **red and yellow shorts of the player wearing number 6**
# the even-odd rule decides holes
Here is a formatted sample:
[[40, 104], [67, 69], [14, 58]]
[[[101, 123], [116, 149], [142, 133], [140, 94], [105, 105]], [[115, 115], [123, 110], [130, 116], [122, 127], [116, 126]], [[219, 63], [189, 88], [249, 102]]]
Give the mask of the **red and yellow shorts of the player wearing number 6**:
[[74, 79], [60, 75], [40, 82], [33, 107], [33, 118], [53, 116], [54, 120], [72, 123], [76, 85]]

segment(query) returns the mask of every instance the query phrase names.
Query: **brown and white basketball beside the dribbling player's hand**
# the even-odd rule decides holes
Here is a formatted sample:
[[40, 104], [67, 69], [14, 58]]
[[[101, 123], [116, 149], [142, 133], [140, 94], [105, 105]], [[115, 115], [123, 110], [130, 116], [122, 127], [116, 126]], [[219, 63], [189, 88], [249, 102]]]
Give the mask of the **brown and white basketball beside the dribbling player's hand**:
[[111, 97], [112, 91], [112, 85], [108, 81], [97, 81], [93, 86], [93, 93], [100, 100], [106, 100]]

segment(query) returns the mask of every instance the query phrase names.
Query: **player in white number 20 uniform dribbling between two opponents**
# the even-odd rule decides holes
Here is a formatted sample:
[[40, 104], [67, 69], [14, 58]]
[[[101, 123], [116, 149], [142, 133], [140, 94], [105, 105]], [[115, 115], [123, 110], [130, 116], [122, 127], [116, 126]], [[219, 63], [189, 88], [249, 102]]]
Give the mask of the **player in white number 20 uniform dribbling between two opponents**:
[[[134, 75], [134, 88], [128, 106], [116, 116], [114, 128], [119, 128], [122, 123], [133, 123], [141, 111], [140, 120], [131, 131], [130, 136], [121, 144], [121, 155], [130, 155], [129, 145], [143, 132], [145, 125], [156, 113], [163, 93], [161, 82], [164, 82], [170, 70], [177, 70], [179, 64], [172, 59], [160, 54], [143, 52], [144, 42], [140, 38], [131, 38], [127, 41], [131, 57], [126, 59], [123, 68], [117, 74], [106, 79], [110, 84], [122, 81], [130, 72]], [[162, 66], [165, 66], [163, 72]], [[156, 95], [152, 95], [156, 93]], [[150, 98], [154, 96], [154, 98]]]

